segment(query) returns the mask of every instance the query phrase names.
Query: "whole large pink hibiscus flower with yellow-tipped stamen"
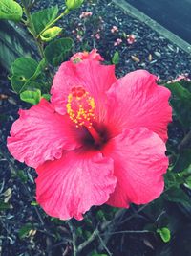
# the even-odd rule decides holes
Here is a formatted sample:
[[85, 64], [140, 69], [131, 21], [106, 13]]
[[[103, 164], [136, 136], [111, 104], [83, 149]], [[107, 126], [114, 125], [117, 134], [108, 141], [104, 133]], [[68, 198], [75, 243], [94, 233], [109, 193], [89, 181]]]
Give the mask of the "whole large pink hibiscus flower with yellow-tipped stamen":
[[35, 168], [36, 200], [62, 220], [108, 203], [128, 208], [158, 198], [168, 167], [170, 92], [144, 70], [117, 80], [94, 59], [64, 62], [42, 99], [11, 128], [8, 148]]

